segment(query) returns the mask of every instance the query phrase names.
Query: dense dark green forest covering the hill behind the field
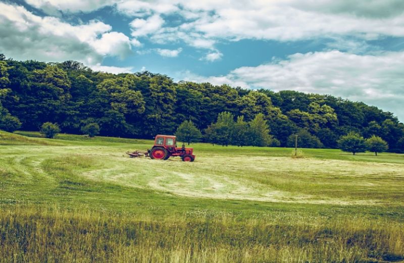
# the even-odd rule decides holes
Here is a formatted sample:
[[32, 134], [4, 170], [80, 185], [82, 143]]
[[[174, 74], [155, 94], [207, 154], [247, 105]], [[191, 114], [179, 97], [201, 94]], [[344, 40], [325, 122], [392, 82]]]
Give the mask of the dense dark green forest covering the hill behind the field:
[[82, 127], [96, 123], [100, 135], [151, 138], [173, 134], [184, 121], [209, 133], [208, 127], [224, 112], [234, 119], [243, 116], [245, 122], [263, 116], [280, 146], [299, 134], [307, 138], [300, 146], [335, 148], [340, 136], [353, 131], [365, 138], [380, 136], [390, 151], [404, 152], [404, 125], [392, 113], [363, 102], [296, 91], [175, 83], [147, 71], [115, 75], [75, 61], [21, 62], [0, 54], [0, 129], [35, 131], [52, 122], [62, 132], [79, 134]]

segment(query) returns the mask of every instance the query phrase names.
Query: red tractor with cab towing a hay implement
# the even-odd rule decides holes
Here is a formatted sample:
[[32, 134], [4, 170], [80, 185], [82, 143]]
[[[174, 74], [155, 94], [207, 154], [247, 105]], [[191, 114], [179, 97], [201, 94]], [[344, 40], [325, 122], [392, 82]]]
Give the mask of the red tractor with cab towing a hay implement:
[[155, 137], [155, 145], [151, 149], [142, 151], [135, 150], [126, 152], [130, 157], [138, 157], [141, 155], [150, 156], [151, 159], [167, 160], [170, 156], [180, 156], [184, 162], [193, 162], [195, 155], [192, 154], [193, 148], [177, 147], [177, 137], [173, 135], [157, 135]]

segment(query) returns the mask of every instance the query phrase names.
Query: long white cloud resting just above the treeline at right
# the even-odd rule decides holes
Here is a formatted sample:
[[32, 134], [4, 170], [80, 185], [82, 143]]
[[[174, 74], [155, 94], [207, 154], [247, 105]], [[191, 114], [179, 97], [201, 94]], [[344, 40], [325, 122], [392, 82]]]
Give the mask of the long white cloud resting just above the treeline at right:
[[296, 90], [364, 101], [404, 120], [404, 51], [355, 55], [337, 50], [294, 54], [257, 67], [240, 67], [225, 76], [183, 74], [183, 79], [244, 88]]

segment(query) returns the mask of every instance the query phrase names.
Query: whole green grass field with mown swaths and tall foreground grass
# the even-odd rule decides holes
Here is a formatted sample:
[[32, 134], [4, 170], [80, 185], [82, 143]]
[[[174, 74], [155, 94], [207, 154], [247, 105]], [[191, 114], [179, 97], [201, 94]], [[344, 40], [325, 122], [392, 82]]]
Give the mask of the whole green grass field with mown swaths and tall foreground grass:
[[0, 132], [1, 262], [404, 261], [402, 154], [196, 143], [187, 163], [18, 134]]

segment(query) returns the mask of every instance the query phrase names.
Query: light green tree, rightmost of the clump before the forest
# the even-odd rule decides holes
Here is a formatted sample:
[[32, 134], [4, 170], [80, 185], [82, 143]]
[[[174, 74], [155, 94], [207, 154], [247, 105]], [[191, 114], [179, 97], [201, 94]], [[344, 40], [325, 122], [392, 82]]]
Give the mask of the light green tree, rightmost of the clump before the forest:
[[269, 127], [264, 118], [264, 114], [259, 113], [254, 120], [249, 122], [250, 143], [252, 146], [268, 146], [271, 142]]

